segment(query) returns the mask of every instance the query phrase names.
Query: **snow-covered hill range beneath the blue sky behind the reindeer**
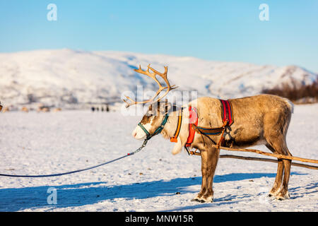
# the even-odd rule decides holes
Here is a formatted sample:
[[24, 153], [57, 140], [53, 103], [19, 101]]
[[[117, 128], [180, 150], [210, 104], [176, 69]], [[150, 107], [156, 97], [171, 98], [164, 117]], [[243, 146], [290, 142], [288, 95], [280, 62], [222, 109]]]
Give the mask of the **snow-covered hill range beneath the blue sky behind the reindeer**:
[[4, 105], [41, 102], [62, 107], [70, 104], [120, 102], [125, 91], [137, 85], [155, 90], [146, 76], [134, 72], [148, 63], [158, 71], [168, 66], [168, 77], [179, 90], [230, 98], [256, 95], [261, 90], [309, 85], [318, 78], [298, 66], [254, 65], [206, 61], [131, 52], [84, 52], [71, 49], [0, 54], [0, 101]]

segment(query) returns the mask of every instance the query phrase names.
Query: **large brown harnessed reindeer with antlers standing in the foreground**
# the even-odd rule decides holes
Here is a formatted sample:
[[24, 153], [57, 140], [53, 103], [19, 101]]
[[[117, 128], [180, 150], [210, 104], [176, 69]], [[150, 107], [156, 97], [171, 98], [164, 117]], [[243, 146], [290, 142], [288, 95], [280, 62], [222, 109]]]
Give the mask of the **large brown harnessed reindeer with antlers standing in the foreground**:
[[[176, 138], [177, 143], [172, 149], [172, 154], [180, 153], [182, 148], [185, 147], [189, 135], [189, 106], [195, 107], [197, 110], [198, 126], [223, 126], [221, 104], [220, 100], [216, 98], [199, 97], [189, 102], [182, 110], [180, 110], [180, 107], [167, 102], [167, 100], [165, 102], [160, 101], [170, 90], [176, 88], [175, 85], [171, 86], [167, 80], [167, 66], [165, 66], [164, 73], [155, 71], [150, 65], [148, 65], [146, 71], [141, 70], [141, 66], [135, 71], [153, 78], [158, 83], [159, 89], [150, 100], [136, 102], [130, 97], [126, 97], [127, 100], [124, 100], [126, 107], [151, 102], [148, 111], [132, 132], [134, 138], [139, 140], [149, 139], [158, 133], [161, 133], [167, 139], [174, 137], [181, 114], [182, 120]], [[167, 86], [161, 85], [156, 76], [163, 78]], [[160, 92], [165, 89], [165, 93], [158, 97]], [[155, 100], [156, 97], [158, 97], [157, 100]], [[262, 144], [266, 145], [273, 153], [292, 156], [286, 144], [286, 133], [293, 113], [293, 104], [288, 99], [276, 95], [256, 95], [228, 101], [232, 105], [234, 123], [228, 127], [225, 136], [223, 136], [223, 146], [247, 148]], [[213, 176], [220, 154], [220, 149], [216, 148], [215, 144], [220, 141], [220, 136], [206, 137], [199, 133], [194, 134], [194, 140], [189, 148], [196, 148], [201, 153], [202, 184], [201, 191], [192, 201], [213, 202]], [[269, 191], [269, 196], [278, 200], [290, 197], [288, 194], [290, 165], [291, 160], [278, 159], [276, 179], [271, 191]]]

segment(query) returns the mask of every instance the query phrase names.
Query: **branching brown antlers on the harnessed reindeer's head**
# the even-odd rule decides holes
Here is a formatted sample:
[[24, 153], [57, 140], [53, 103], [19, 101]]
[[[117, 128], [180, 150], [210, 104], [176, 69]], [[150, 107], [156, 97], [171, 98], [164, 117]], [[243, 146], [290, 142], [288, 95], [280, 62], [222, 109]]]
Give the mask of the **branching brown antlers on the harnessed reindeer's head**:
[[[151, 73], [149, 70], [151, 70], [153, 72]], [[177, 87], [175, 87], [175, 85], [170, 85], [169, 81], [167, 80], [167, 66], [165, 66], [165, 72], [164, 73], [160, 73], [159, 71], [156, 71], [155, 69], [153, 69], [150, 66], [150, 64], [148, 64], [147, 71], [143, 71], [141, 69], [140, 65], [139, 65], [139, 69], [134, 69], [134, 71], [136, 71], [138, 73], [142, 73], [142, 74], [144, 74], [146, 76], [149, 76], [149, 77], [153, 78], [153, 80], [159, 85], [159, 89], [158, 89], [157, 93], [155, 93], [155, 95], [150, 100], [144, 100], [144, 101], [141, 101], [141, 102], [137, 102], [135, 100], [132, 100], [130, 97], [126, 96], [126, 98], [128, 100], [130, 100], [130, 102], [128, 102], [127, 100], [124, 100], [124, 102], [126, 102], [126, 107], [130, 107], [131, 105], [144, 104], [146, 102], [152, 102], [153, 100], [155, 100], [155, 97], [158, 97], [158, 95], [161, 93], [161, 91], [167, 89], [165, 91], [165, 93], [161, 97], [159, 97], [157, 99], [157, 101], [160, 101], [161, 99], [163, 99], [163, 97], [165, 97], [167, 95], [167, 93], [169, 93], [170, 90], [174, 90], [175, 88], [177, 88]], [[161, 85], [161, 83], [156, 78], [157, 75], [160, 76], [161, 78], [163, 78], [163, 81], [165, 81], [167, 86]]]

